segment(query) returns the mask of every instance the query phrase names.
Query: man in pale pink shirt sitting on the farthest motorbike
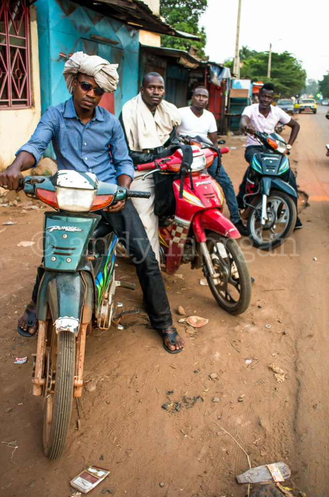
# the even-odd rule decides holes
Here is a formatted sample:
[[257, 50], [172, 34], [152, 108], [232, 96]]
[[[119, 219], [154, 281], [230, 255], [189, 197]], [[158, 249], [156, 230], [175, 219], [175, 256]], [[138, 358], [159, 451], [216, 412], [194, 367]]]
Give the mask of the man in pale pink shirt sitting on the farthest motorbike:
[[[272, 83], [265, 83], [260, 88], [258, 93], [259, 103], [253, 103], [245, 107], [241, 120], [240, 120], [240, 131], [245, 133], [246, 131], [262, 131], [265, 133], [274, 133], [275, 125], [280, 121], [289, 128], [291, 128], [290, 137], [288, 140], [288, 150], [291, 149], [292, 144], [296, 140], [299, 132], [299, 124], [297, 121], [292, 119], [284, 110], [271, 105], [274, 96], [274, 86]], [[246, 152], [245, 159], [248, 164], [252, 159], [254, 154], [266, 152], [265, 147], [258, 142], [252, 135], [247, 135], [246, 142]], [[247, 182], [248, 169], [245, 172], [242, 183], [239, 187], [239, 193], [237, 195], [238, 205], [243, 208], [243, 197], [246, 193], [246, 182]], [[297, 191], [296, 178], [292, 170], [290, 169], [290, 176], [288, 183]], [[297, 199], [293, 198], [296, 210], [297, 210]], [[299, 217], [297, 217], [295, 230], [302, 228], [302, 223]]]

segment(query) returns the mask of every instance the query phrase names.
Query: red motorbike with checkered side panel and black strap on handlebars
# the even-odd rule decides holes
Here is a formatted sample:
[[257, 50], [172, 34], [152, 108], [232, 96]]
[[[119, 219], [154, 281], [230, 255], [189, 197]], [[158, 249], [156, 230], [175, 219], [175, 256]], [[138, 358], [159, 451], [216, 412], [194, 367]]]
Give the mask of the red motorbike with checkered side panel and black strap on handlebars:
[[[191, 141], [186, 162], [182, 149], [137, 166], [140, 171], [152, 169], [144, 177], [155, 171], [166, 176], [173, 193], [172, 215], [159, 228], [161, 262], [169, 274], [188, 262], [192, 269], [202, 267], [218, 305], [230, 314], [242, 314], [250, 303], [251, 280], [236, 242], [240, 233], [224, 216], [221, 190], [206, 171], [217, 152]], [[221, 154], [228, 151], [221, 149]]]

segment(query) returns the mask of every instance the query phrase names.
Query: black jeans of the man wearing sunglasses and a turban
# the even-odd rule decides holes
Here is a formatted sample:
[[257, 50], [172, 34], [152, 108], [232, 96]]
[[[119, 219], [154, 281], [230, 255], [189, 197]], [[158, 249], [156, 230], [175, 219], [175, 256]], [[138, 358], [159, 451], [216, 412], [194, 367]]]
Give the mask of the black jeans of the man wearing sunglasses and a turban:
[[[163, 331], [172, 326], [169, 302], [165, 293], [164, 280], [154, 251], [151, 248], [142, 221], [132, 201], [126, 201], [119, 212], [98, 211], [110, 225], [127, 253], [132, 257], [142, 287], [146, 311], [152, 328]], [[39, 278], [33, 288], [32, 300], [37, 301]]]

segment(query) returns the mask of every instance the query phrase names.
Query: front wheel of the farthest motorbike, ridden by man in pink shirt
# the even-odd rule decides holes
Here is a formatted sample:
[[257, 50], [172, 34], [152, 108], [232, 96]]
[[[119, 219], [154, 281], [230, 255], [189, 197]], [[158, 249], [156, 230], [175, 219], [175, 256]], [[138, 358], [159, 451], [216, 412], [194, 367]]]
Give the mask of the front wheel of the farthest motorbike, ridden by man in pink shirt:
[[[267, 203], [266, 203], [266, 210], [267, 213], [271, 214], [271, 220], [269, 223], [270, 224], [266, 227], [265, 224], [265, 229], [261, 228], [260, 222], [259, 222], [259, 211], [261, 211], [261, 203], [262, 199], [261, 197], [257, 200], [257, 202], [254, 204], [254, 209], [250, 213], [248, 217], [248, 224], [247, 224], [247, 230], [248, 230], [248, 236], [249, 240], [251, 241], [252, 245], [256, 248], [261, 248], [262, 250], [269, 250], [271, 248], [276, 248], [279, 247], [281, 244], [283, 244], [287, 238], [290, 237], [292, 234], [295, 224], [296, 224], [296, 219], [297, 219], [297, 211], [296, 211], [296, 206], [290, 195], [287, 193], [284, 193], [279, 190], [272, 190], [270, 192], [270, 195], [267, 197]], [[276, 211], [274, 212], [275, 214], [275, 220], [273, 219], [273, 209], [272, 206], [276, 205]], [[282, 208], [281, 206], [285, 206], [285, 210], [280, 212], [279, 220], [282, 219], [284, 223], [278, 223], [277, 220], [277, 212], [278, 209]], [[270, 211], [272, 209], [272, 212]], [[275, 224], [276, 222], [276, 224]], [[277, 224], [283, 224], [282, 226], [282, 231], [281, 232], [274, 232], [273, 228], [277, 228]], [[263, 238], [264, 237], [264, 238]]]

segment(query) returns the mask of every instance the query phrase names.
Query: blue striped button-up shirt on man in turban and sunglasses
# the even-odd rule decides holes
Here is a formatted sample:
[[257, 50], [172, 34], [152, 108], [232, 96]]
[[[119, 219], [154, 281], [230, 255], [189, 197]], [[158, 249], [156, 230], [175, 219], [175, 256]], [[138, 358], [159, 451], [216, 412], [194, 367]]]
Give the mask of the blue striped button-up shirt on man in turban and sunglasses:
[[38, 164], [50, 140], [59, 169], [93, 172], [108, 183], [117, 183], [120, 174], [134, 179], [134, 166], [119, 120], [103, 107], [95, 107], [94, 117], [87, 124], [77, 116], [73, 97], [48, 107], [16, 155], [23, 150], [29, 152]]

